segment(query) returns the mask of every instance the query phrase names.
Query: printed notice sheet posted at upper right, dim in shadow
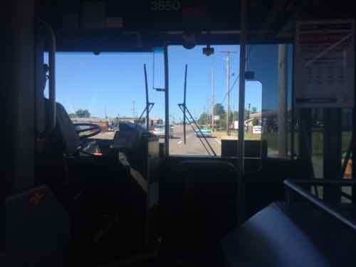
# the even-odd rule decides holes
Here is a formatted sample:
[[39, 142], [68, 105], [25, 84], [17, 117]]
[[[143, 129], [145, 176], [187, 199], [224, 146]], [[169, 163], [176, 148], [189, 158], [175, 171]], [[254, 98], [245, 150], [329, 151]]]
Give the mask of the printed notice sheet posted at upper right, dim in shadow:
[[355, 22], [303, 21], [295, 35], [295, 106], [353, 108]]

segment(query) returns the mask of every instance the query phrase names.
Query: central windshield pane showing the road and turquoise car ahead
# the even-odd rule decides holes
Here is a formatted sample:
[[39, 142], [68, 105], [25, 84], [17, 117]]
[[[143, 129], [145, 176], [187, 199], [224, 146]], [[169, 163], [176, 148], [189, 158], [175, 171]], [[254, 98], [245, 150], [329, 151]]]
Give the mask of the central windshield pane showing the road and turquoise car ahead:
[[222, 140], [236, 139], [239, 46], [214, 46], [210, 56], [203, 48], [168, 47], [169, 155], [221, 156]]

